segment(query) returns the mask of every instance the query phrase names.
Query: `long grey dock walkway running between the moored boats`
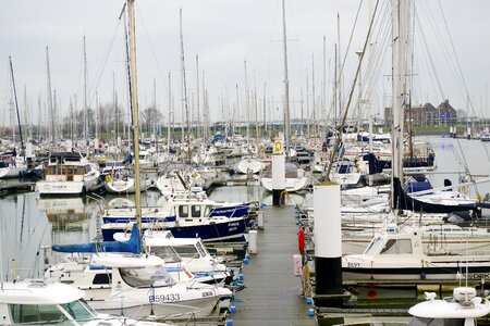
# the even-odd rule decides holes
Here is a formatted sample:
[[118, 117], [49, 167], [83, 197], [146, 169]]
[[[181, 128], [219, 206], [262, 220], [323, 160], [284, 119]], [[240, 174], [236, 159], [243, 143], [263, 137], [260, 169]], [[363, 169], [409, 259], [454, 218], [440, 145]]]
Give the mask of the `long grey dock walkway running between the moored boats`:
[[244, 265], [245, 289], [236, 293], [236, 313], [230, 318], [234, 326], [317, 325], [293, 274], [293, 254], [298, 253], [294, 208], [268, 206], [264, 215], [258, 253]]

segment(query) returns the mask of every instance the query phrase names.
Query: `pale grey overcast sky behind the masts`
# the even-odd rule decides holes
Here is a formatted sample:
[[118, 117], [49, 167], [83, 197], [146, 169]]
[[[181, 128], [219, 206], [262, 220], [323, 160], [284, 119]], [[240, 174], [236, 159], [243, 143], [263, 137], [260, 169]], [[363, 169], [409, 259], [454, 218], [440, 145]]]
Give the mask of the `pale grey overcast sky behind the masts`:
[[[388, 0], [380, 0], [380, 14]], [[371, 0], [371, 2], [375, 2]], [[487, 89], [490, 76], [489, 50], [490, 2], [488, 0], [416, 1], [415, 63], [413, 101], [439, 104], [444, 98], [456, 109], [467, 109], [467, 96], [460, 68], [453, 54], [457, 53], [461, 73], [478, 115], [487, 113]], [[119, 21], [123, 0], [15, 0], [3, 1], [0, 11], [0, 124], [8, 124], [10, 99], [9, 55], [12, 57], [21, 105], [24, 87], [32, 120], [38, 118], [38, 98], [46, 102], [47, 63], [52, 89], [57, 91], [61, 111], [68, 112], [70, 100], [76, 97], [77, 108], [83, 99], [83, 37], [86, 37], [88, 89], [90, 102], [98, 93], [101, 103], [112, 101], [113, 76], [120, 101], [125, 101], [123, 22]], [[311, 102], [313, 85], [316, 97], [322, 95], [322, 39], [326, 36], [327, 106], [333, 89], [333, 60], [336, 36], [336, 15], [340, 14], [340, 48], [343, 57], [353, 28], [359, 0], [287, 0], [286, 28], [289, 47], [290, 87], [293, 116], [301, 116], [299, 98], [306, 105], [306, 83]], [[168, 74], [172, 74], [172, 93], [176, 116], [180, 117], [180, 40], [179, 11], [183, 12], [183, 33], [187, 96], [196, 92], [196, 54], [199, 55], [200, 87], [203, 71], [209, 91], [211, 116], [222, 120], [219, 98], [228, 99], [244, 116], [245, 68], [247, 85], [257, 89], [259, 99], [266, 95], [268, 106], [280, 118], [283, 93], [282, 12], [280, 0], [137, 0], [137, 70], [140, 108], [154, 101], [154, 79], [159, 110], [167, 115]], [[353, 45], [347, 52], [344, 73], [344, 97], [368, 29], [369, 1], [362, 5]], [[388, 20], [387, 20], [388, 21]], [[390, 22], [384, 22], [390, 24]], [[424, 40], [425, 38], [425, 40]], [[378, 40], [373, 40], [378, 42]], [[381, 45], [382, 41], [379, 40]], [[366, 84], [370, 83], [373, 112], [382, 112], [390, 102], [390, 47], [382, 50], [385, 63]], [[429, 53], [429, 54], [428, 54]], [[418, 58], [418, 59], [417, 59]], [[311, 65], [315, 64], [315, 77]], [[308, 74], [308, 75], [307, 75]], [[315, 78], [315, 83], [313, 83]], [[376, 80], [376, 82], [375, 82]], [[238, 96], [236, 95], [238, 86]], [[238, 100], [236, 98], [238, 97]], [[203, 101], [203, 100], [200, 100]], [[318, 103], [317, 103], [318, 105]], [[305, 106], [304, 106], [304, 110]], [[473, 114], [473, 113], [471, 113]]]

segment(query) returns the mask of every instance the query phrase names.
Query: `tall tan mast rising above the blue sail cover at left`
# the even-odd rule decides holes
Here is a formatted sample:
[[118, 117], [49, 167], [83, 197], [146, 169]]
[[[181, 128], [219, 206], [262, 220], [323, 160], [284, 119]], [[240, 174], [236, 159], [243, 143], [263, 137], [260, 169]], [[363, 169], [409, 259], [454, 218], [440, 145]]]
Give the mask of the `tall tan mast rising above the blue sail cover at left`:
[[127, 0], [127, 15], [130, 21], [130, 67], [131, 67], [131, 106], [133, 109], [133, 147], [134, 147], [134, 201], [136, 221], [142, 231], [142, 193], [139, 183], [139, 133], [138, 133], [138, 91], [136, 80], [136, 36], [134, 23], [134, 0]]

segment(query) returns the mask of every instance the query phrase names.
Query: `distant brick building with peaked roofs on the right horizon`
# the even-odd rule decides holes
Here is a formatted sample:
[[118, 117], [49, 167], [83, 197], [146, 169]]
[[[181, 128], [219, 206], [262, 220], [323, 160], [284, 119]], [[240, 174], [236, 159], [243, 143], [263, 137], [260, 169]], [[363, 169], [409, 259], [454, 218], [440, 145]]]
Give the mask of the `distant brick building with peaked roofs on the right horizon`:
[[[456, 117], [456, 110], [451, 106], [449, 100], [444, 100], [438, 108], [434, 108], [431, 103], [426, 103], [412, 106], [412, 110], [405, 109], [405, 121], [408, 122], [412, 118], [414, 125], [417, 126], [448, 125], [453, 121], [455, 122]], [[391, 108], [384, 108], [384, 120], [390, 123], [393, 121]]]

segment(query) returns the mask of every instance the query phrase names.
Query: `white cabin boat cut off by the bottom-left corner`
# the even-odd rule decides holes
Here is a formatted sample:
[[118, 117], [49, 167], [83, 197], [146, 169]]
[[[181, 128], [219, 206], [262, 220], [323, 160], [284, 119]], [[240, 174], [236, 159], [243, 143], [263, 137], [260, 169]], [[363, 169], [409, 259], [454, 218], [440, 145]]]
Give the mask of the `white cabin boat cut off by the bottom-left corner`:
[[0, 314], [2, 325], [139, 325], [152, 323], [100, 314], [83, 301], [84, 291], [65, 284], [36, 280], [2, 283]]

